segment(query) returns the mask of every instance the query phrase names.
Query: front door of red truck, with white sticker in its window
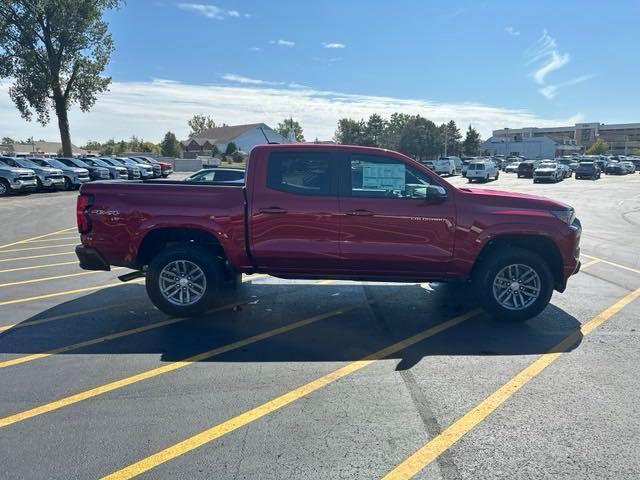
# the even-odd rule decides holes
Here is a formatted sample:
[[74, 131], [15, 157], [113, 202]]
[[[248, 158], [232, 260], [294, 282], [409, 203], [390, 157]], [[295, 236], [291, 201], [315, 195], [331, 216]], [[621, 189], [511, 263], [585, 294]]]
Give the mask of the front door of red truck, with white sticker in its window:
[[439, 275], [453, 257], [455, 201], [429, 201], [432, 174], [381, 154], [345, 153], [340, 254], [353, 274]]

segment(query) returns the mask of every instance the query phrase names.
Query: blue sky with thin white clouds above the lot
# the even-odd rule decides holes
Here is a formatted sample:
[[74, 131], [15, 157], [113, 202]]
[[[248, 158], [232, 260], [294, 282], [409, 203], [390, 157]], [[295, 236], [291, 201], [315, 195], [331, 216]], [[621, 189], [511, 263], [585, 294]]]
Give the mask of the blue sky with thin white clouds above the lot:
[[[454, 118], [484, 136], [640, 121], [637, 0], [129, 0], [108, 20], [114, 85], [92, 113], [73, 113], [76, 143], [184, 136], [190, 113], [292, 115], [323, 139], [340, 116], [372, 111]], [[0, 95], [0, 134], [38, 136]]]

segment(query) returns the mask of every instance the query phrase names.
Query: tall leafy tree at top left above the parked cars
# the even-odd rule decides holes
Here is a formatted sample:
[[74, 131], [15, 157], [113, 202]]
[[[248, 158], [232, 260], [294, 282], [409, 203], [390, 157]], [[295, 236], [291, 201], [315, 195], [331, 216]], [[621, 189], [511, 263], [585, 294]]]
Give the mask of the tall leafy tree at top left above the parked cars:
[[111, 77], [102, 76], [113, 40], [102, 15], [120, 0], [0, 0], [0, 77], [25, 120], [46, 125], [51, 109], [71, 156], [69, 107], [91, 109]]

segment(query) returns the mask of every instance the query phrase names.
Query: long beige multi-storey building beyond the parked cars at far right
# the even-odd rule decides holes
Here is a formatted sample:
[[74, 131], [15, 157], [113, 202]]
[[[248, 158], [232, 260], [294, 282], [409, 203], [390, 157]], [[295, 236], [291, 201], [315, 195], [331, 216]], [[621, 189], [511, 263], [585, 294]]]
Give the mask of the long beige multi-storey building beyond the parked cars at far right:
[[494, 130], [495, 138], [520, 140], [523, 138], [549, 137], [556, 142], [575, 141], [586, 150], [598, 138], [609, 144], [611, 153], [627, 155], [640, 149], [640, 123], [576, 123], [572, 127], [503, 128]]

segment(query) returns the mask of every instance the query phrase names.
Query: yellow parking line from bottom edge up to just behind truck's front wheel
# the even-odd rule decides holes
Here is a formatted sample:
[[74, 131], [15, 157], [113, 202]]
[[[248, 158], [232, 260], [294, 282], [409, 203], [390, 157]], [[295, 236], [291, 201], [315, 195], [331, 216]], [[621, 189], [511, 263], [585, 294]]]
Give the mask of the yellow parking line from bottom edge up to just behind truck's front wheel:
[[194, 450], [198, 447], [201, 447], [202, 445], [205, 445], [206, 443], [209, 443], [213, 440], [216, 440], [222, 437], [223, 435], [226, 435], [227, 433], [233, 432], [238, 428], [248, 425], [249, 423], [254, 422], [276, 410], [279, 410], [289, 405], [290, 403], [295, 402], [296, 400], [306, 397], [307, 395], [310, 395], [311, 393], [317, 390], [320, 390], [321, 388], [326, 387], [327, 385], [333, 382], [336, 382], [341, 378], [344, 378], [348, 375], [351, 375], [352, 373], [362, 370], [363, 368], [365, 368], [366, 366], [372, 364], [377, 360], [381, 360], [385, 357], [388, 357], [389, 355], [397, 353], [401, 350], [404, 350], [407, 347], [415, 345], [418, 342], [421, 342], [429, 337], [432, 337], [440, 332], [443, 332], [448, 328], [458, 325], [464, 322], [465, 320], [468, 320], [469, 318], [473, 317], [477, 313], [478, 313], [478, 310], [473, 310], [463, 315], [459, 315], [457, 317], [451, 318], [443, 323], [436, 325], [435, 327], [431, 327], [416, 335], [413, 335], [412, 337], [406, 338], [405, 340], [402, 340], [386, 348], [378, 350], [377, 352], [372, 353], [371, 355], [368, 355], [362, 358], [361, 360], [350, 362], [347, 365], [341, 368], [338, 368], [337, 370], [334, 370], [333, 372], [330, 372], [326, 375], [323, 375], [320, 378], [317, 378], [316, 380], [313, 380], [305, 385], [295, 388], [283, 395], [280, 395], [272, 400], [269, 400], [266, 403], [258, 405], [257, 407], [247, 410], [246, 412], [236, 417], [233, 417], [229, 420], [219, 423], [207, 430], [204, 430], [203, 432], [200, 432], [179, 443], [176, 443], [175, 445], [165, 448], [164, 450], [161, 450], [147, 458], [144, 458], [138, 462], [135, 462], [103, 478], [109, 479], [109, 480], [115, 480], [115, 479], [121, 480], [121, 479], [128, 479], [128, 478], [132, 478], [137, 475], [140, 475], [141, 473], [151, 470], [152, 468], [157, 467], [160, 464], [168, 462], [169, 460], [179, 457], [180, 455], [184, 455], [185, 453], [190, 452], [191, 450]]

